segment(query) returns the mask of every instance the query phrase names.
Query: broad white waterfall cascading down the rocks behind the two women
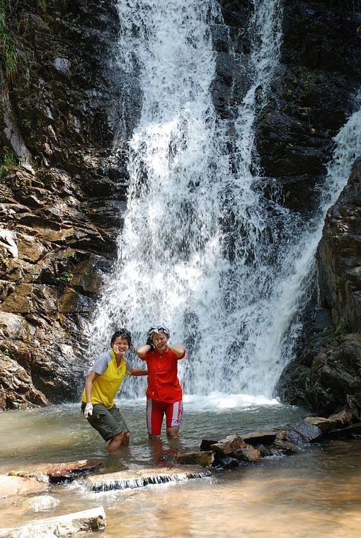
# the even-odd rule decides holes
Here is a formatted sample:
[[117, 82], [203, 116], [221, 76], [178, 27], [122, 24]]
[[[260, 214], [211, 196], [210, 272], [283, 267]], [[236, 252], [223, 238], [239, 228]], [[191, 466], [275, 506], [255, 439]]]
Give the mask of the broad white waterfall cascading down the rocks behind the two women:
[[[164, 323], [172, 342], [188, 348], [180, 364], [188, 395], [272, 397], [292, 355], [321, 229], [315, 222], [299, 237], [297, 217], [253, 188], [256, 99], [259, 107], [277, 67], [282, 2], [253, 4], [251, 87], [230, 138], [210, 92], [210, 26], [222, 21], [217, 2], [118, 1], [119, 62], [137, 75], [143, 101], [129, 144], [118, 262], [94, 316], [90, 353], [115, 328], [127, 326], [140, 345], [149, 326]], [[339, 160], [342, 175], [329, 172], [340, 176], [332, 199], [351, 156]], [[315, 246], [306, 253], [311, 237]], [[144, 394], [141, 382], [131, 390]]]

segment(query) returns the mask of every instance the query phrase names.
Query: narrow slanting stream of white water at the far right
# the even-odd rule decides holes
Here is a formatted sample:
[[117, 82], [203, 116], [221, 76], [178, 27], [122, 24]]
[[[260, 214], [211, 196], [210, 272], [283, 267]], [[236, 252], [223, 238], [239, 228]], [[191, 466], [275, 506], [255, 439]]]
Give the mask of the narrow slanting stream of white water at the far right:
[[261, 357], [263, 345], [268, 354], [273, 356], [273, 374], [270, 379], [272, 387], [277, 383], [282, 370], [293, 358], [294, 341], [302, 331], [302, 313], [316, 281], [316, 249], [321, 240], [326, 212], [336, 203], [338, 195], [346, 185], [355, 159], [361, 154], [361, 95], [356, 96], [357, 110], [334, 137], [335, 149], [328, 164], [326, 178], [321, 192], [321, 202], [311, 222], [302, 234], [297, 234], [296, 241], [287, 249], [280, 274], [282, 278], [275, 281], [273, 297], [273, 319], [264, 335], [263, 342], [256, 346], [255, 356]]

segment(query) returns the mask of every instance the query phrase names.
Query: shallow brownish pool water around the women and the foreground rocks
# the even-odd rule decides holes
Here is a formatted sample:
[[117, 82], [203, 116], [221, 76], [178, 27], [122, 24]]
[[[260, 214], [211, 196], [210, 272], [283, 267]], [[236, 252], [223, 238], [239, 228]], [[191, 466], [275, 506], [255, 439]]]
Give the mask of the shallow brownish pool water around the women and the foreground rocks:
[[[301, 408], [247, 404], [214, 398], [188, 401], [181, 439], [149, 445], [144, 401], [121, 404], [130, 447], [108, 454], [101, 437], [82, 418], [78, 404], [0, 413], [0, 473], [30, 464], [100, 460], [103, 469], [150, 467], [176, 450], [197, 450], [203, 437], [282, 428], [306, 416]], [[232, 407], [232, 406], [236, 407]], [[164, 437], [164, 435], [163, 435]], [[302, 452], [211, 478], [147, 486], [132, 491], [89, 493], [79, 482], [50, 486], [58, 504], [34, 512], [29, 498], [0, 499], [1, 527], [103, 505], [105, 538], [207, 537], [243, 533], [285, 537], [354, 537], [361, 524], [361, 440], [308, 445]]]

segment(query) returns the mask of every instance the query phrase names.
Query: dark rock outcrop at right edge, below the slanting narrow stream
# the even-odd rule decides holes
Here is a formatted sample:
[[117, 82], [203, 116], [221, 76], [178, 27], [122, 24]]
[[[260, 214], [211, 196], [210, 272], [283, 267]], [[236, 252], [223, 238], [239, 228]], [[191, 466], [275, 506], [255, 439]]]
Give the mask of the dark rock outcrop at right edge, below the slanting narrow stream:
[[287, 366], [280, 395], [328, 413], [347, 406], [361, 419], [361, 158], [328, 211], [319, 244], [320, 307], [311, 311], [302, 352]]

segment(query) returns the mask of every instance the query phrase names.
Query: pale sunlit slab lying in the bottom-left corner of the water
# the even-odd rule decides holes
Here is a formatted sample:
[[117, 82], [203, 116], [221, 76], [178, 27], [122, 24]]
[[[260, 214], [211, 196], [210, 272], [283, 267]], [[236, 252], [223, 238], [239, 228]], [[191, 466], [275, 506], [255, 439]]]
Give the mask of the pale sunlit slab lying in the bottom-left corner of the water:
[[103, 531], [106, 517], [103, 506], [82, 510], [72, 514], [48, 517], [19, 527], [0, 529], [0, 537], [6, 538], [48, 538], [50, 536], [70, 537], [76, 532]]

